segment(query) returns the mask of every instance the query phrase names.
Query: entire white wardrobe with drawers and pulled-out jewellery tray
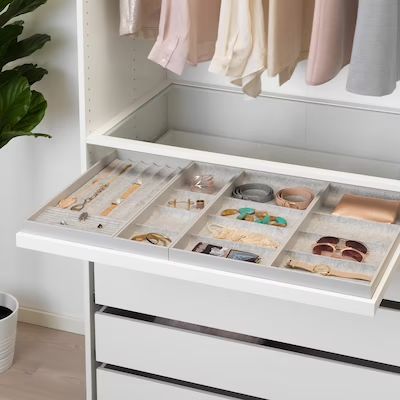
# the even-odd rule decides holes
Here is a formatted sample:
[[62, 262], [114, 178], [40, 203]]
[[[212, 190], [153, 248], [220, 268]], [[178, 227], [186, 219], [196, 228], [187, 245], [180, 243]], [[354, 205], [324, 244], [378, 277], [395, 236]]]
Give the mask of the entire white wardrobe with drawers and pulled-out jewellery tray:
[[[308, 87], [300, 64], [289, 83], [266, 79], [249, 100], [207, 65], [178, 77], [148, 61], [151, 42], [119, 36], [117, 0], [77, 2], [83, 175], [26, 222], [17, 244], [87, 261], [87, 399], [397, 400], [400, 221], [331, 211], [348, 191], [400, 200], [400, 90], [348, 93], [346, 70]], [[60, 200], [116, 159], [150, 168], [148, 191], [118, 218], [89, 211], [84, 228], [62, 214]], [[205, 173], [217, 188], [204, 209], [167, 209], [190, 191], [188, 177]], [[316, 197], [299, 212], [268, 205], [289, 224], [266, 228], [280, 245], [260, 265], [193, 253], [210, 240], [207, 223], [239, 207], [232, 188], [254, 180]], [[146, 226], [167, 232], [170, 246], [129, 240]], [[372, 282], [284, 268], [328, 234], [371, 243]]]

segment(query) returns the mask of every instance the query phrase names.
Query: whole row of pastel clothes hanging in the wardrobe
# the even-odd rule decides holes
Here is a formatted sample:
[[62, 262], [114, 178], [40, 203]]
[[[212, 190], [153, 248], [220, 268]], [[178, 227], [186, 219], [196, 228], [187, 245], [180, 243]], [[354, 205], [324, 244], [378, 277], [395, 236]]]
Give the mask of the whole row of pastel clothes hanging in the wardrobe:
[[347, 90], [384, 96], [400, 79], [400, 1], [120, 0], [120, 34], [156, 39], [149, 59], [181, 75], [211, 61], [251, 97], [261, 77], [322, 85], [350, 64]]

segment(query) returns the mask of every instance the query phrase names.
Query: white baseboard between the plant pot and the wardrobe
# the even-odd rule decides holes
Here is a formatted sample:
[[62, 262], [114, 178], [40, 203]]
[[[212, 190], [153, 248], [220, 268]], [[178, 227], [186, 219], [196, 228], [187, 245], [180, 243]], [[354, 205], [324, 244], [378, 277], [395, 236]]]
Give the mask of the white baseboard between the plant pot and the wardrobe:
[[44, 326], [59, 331], [77, 333], [79, 335], [83, 335], [85, 332], [84, 322], [79, 318], [33, 310], [30, 308], [20, 308], [18, 310], [18, 320], [28, 324]]

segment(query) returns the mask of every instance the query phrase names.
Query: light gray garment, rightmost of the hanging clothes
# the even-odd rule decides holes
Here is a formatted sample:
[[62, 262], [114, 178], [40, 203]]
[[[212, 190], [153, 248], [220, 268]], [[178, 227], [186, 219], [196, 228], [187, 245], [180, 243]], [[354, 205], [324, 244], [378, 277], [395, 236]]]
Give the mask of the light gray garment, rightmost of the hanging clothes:
[[347, 90], [385, 96], [400, 80], [400, 0], [360, 0]]

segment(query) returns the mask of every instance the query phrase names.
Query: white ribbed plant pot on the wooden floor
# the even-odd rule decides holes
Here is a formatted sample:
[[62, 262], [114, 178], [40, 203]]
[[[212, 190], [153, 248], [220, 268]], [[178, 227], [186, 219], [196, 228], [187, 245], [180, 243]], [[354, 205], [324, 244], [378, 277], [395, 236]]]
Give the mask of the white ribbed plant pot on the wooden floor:
[[15, 339], [17, 336], [18, 301], [14, 296], [0, 292], [0, 306], [9, 308], [12, 313], [0, 319], [0, 374], [7, 371], [14, 360]]

